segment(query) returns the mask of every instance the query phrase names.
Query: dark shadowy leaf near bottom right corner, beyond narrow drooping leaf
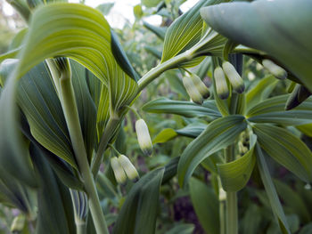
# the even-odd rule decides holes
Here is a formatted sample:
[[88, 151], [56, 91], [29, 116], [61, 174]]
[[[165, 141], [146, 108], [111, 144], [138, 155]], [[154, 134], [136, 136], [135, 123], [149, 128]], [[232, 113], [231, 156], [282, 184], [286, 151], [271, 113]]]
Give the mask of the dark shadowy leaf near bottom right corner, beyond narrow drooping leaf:
[[300, 195], [287, 184], [277, 180], [274, 182], [277, 193], [279, 197], [283, 199], [284, 205], [290, 207], [293, 214], [298, 214], [301, 222], [306, 223], [311, 221], [311, 216], [308, 213], [308, 206]]

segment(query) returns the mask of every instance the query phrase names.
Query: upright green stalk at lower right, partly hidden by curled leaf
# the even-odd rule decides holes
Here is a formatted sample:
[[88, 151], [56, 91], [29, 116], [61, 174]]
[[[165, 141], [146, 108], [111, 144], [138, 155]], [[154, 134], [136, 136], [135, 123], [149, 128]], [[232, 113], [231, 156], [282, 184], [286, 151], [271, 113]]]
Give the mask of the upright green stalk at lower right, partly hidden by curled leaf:
[[[226, 163], [234, 161], [234, 145], [226, 149]], [[238, 234], [236, 192], [226, 192], [226, 234]]]

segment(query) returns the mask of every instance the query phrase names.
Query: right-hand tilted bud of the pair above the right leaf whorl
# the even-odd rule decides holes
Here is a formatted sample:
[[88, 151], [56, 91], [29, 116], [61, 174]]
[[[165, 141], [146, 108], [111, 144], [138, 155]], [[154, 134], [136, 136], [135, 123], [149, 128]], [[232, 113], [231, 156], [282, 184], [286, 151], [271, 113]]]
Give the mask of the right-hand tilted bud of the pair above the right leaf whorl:
[[222, 64], [222, 68], [226, 73], [226, 77], [230, 81], [234, 91], [242, 93], [245, 90], [245, 85], [243, 84], [242, 77], [238, 74], [234, 66], [230, 62], [225, 61]]

